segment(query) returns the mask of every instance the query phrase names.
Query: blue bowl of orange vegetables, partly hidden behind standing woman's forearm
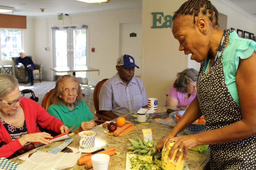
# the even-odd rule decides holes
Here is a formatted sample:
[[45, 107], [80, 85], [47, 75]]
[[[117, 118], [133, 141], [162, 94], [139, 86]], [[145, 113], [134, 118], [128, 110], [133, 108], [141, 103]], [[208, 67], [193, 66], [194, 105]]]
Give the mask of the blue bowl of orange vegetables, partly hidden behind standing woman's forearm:
[[[169, 114], [169, 117], [171, 117], [171, 119], [173, 119], [175, 123], [177, 123], [182, 118], [184, 113], [185, 110], [178, 110], [175, 112], [171, 112]], [[197, 134], [199, 132], [205, 131], [205, 123], [205, 117], [202, 116], [193, 123], [191, 123], [186, 129], [189, 131], [190, 134]]]

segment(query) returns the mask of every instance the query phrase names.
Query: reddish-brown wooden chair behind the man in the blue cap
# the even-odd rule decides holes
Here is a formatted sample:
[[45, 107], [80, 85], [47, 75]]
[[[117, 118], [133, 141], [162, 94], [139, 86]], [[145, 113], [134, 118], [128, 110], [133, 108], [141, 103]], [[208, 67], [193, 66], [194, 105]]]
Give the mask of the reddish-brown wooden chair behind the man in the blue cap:
[[94, 88], [94, 92], [93, 92], [93, 103], [94, 103], [94, 107], [95, 107], [95, 115], [98, 117], [99, 120], [106, 120], [106, 121], [110, 121], [112, 120], [112, 118], [102, 115], [101, 112], [99, 111], [99, 92], [100, 89], [102, 87], [102, 85], [104, 84], [104, 82], [106, 82], [108, 79], [103, 79], [100, 80], [95, 88]]

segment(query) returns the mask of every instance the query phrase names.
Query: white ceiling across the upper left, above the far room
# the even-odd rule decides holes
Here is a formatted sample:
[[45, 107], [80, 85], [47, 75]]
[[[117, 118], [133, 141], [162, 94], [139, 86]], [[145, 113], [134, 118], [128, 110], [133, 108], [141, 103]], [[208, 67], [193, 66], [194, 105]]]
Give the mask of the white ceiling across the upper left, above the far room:
[[[4, 14], [44, 16], [74, 14], [83, 12], [97, 12], [106, 10], [142, 9], [142, 0], [111, 0], [108, 4], [90, 4], [76, 0], [0, 0], [1, 6], [14, 7], [17, 12]], [[41, 12], [40, 8], [45, 8]]]

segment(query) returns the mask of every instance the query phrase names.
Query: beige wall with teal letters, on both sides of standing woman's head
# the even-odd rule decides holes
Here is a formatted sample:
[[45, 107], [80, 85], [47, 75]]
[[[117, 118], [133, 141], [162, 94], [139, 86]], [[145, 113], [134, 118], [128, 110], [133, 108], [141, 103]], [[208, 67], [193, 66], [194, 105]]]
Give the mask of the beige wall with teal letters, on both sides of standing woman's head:
[[[188, 61], [188, 56], [178, 50], [179, 43], [174, 39], [171, 28], [151, 28], [151, 12], [164, 12], [173, 15], [185, 0], [143, 0], [142, 1], [142, 80], [148, 97], [158, 98], [159, 106], [166, 100], [166, 92], [174, 82], [177, 72], [185, 68], [199, 68], [199, 64]], [[256, 21], [224, 4], [221, 0], [211, 1], [219, 12], [227, 15], [227, 28], [242, 29], [256, 33]]]

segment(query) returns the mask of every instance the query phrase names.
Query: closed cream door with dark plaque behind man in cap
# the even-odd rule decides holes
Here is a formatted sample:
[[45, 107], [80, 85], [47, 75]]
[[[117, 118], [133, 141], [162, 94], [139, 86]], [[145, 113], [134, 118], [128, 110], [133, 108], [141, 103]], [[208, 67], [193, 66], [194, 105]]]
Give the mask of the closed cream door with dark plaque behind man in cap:
[[[131, 55], [135, 64], [140, 69], [135, 67], [135, 76], [141, 77], [141, 22], [120, 23], [120, 39], [119, 39], [119, 55]], [[135, 34], [134, 34], [135, 33]]]

